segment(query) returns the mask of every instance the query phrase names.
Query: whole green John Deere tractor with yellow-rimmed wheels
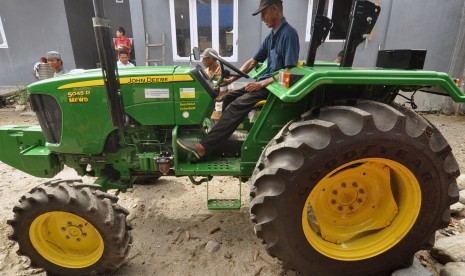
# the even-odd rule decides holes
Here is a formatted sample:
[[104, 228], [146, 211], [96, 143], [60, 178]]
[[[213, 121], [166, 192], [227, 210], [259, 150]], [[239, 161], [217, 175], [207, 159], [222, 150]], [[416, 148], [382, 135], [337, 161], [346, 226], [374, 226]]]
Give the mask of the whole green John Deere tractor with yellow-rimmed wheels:
[[[194, 160], [176, 140], [195, 141], [208, 131], [214, 84], [199, 66], [118, 72], [109, 21], [94, 0], [102, 70], [30, 85], [40, 127], [1, 127], [0, 160], [41, 178], [66, 165], [97, 180], [50, 181], [24, 195], [8, 221], [18, 253], [51, 274], [111, 273], [132, 239], [118, 193], [164, 176], [195, 184], [214, 176], [251, 179], [256, 235], [284, 268], [303, 275], [385, 275], [431, 248], [458, 200], [459, 168], [438, 129], [394, 98], [426, 91], [465, 102], [465, 95], [445, 73], [352, 68], [380, 12], [369, 1], [353, 5], [342, 63], [314, 62], [331, 27], [324, 2], [306, 65], [290, 71], [289, 87], [276, 79], [256, 118]], [[223, 77], [227, 68], [249, 77], [218, 61]], [[240, 204], [208, 200], [211, 209]]]

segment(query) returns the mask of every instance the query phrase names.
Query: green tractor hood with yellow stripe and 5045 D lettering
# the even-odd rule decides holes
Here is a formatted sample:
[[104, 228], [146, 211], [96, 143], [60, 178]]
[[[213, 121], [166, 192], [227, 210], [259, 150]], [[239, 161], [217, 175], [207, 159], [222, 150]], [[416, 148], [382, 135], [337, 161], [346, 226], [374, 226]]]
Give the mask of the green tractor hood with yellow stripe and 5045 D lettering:
[[[188, 66], [134, 67], [118, 70], [123, 127], [200, 125], [213, 109], [212, 99]], [[102, 71], [65, 74], [28, 87], [32, 110], [55, 153], [101, 154], [112, 123]]]

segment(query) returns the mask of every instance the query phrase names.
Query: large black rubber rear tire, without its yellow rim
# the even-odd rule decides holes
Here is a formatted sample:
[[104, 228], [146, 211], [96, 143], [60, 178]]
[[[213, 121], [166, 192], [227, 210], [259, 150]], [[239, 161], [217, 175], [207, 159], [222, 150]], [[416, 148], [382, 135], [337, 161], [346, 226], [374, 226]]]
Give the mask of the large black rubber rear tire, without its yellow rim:
[[[361, 158], [392, 160], [413, 174], [421, 189], [418, 219], [404, 238], [376, 256], [327, 257], [305, 236], [303, 208], [326, 175]], [[458, 175], [447, 141], [413, 111], [367, 100], [323, 107], [287, 124], [263, 151], [252, 177], [251, 219], [268, 253], [285, 269], [318, 276], [387, 275], [409, 266], [418, 250], [431, 248], [435, 231], [449, 224]]]

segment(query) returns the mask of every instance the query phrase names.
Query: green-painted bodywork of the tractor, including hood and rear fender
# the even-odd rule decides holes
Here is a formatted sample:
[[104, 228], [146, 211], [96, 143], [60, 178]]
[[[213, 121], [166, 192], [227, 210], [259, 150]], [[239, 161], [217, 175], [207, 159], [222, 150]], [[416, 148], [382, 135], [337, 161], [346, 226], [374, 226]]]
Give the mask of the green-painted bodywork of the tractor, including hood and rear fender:
[[[251, 74], [257, 77], [264, 68], [256, 68]], [[456, 102], [465, 102], [465, 95], [445, 73], [341, 68], [331, 62], [296, 67], [291, 73], [302, 78], [289, 89], [278, 81], [268, 86], [271, 93], [266, 104], [254, 111], [258, 116], [241, 124], [248, 135], [240, 157], [210, 156], [198, 161], [178, 148], [178, 137], [199, 141], [206, 135], [206, 118], [213, 111], [213, 99], [189, 67], [157, 66], [120, 70], [120, 97], [126, 113], [121, 130], [111, 123], [101, 70], [30, 85], [30, 94], [48, 95], [56, 101], [57, 110], [43, 110], [61, 112], [61, 139], [47, 143], [37, 126], [2, 127], [0, 160], [38, 177], [53, 177], [67, 165], [79, 175], [97, 176], [96, 183], [105, 190], [124, 191], [131, 187], [135, 175], [159, 176], [157, 160], [163, 156], [172, 157], [168, 175], [201, 179], [236, 176], [246, 181], [268, 142], [284, 125], [314, 107], [359, 98], [389, 103], [400, 90], [426, 87], [450, 95]], [[116, 147], [108, 150], [112, 148], [107, 142], [111, 133], [117, 134], [113, 143]], [[240, 199], [239, 205], [231, 202], [235, 202], [231, 206], [240, 206]], [[223, 203], [211, 201], [212, 206]]]

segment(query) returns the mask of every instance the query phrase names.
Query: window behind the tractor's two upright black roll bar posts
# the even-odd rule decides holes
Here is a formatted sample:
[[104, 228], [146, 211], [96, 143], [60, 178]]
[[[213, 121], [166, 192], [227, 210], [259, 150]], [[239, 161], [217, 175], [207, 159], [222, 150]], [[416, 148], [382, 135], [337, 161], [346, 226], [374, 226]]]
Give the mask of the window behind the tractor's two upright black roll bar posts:
[[[316, 16], [316, 6], [318, 0], [308, 1], [307, 30], [305, 40], [310, 41], [310, 32], [312, 31], [313, 19]], [[333, 28], [329, 32], [326, 41], [343, 41], [346, 39], [347, 29], [349, 28], [349, 15], [352, 7], [352, 0], [328, 0], [326, 1], [324, 15], [331, 18]]]

